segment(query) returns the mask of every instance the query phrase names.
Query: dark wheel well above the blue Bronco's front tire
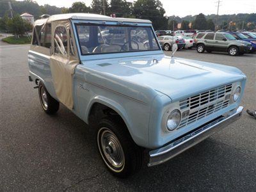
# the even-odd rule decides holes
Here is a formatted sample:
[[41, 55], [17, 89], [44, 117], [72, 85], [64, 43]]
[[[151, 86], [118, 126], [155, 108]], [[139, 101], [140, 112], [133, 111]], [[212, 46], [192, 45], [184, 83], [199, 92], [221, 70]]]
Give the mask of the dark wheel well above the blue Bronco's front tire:
[[[88, 124], [95, 125], [101, 118], [107, 117], [107, 116], [115, 116], [122, 119], [122, 117], [114, 110], [109, 108], [108, 106], [101, 104], [99, 102], [95, 102], [90, 109], [90, 113], [88, 116]], [[122, 119], [124, 122], [124, 120]]]

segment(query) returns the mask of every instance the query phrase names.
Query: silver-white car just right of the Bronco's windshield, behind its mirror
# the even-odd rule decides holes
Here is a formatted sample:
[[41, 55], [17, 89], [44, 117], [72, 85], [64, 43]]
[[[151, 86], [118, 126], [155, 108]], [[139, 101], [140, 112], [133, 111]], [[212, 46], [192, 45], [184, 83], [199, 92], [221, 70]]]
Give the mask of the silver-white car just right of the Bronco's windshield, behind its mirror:
[[159, 36], [158, 40], [164, 51], [169, 51], [172, 49], [173, 44], [177, 44], [178, 49], [183, 49], [186, 45], [184, 38], [177, 38], [175, 36]]

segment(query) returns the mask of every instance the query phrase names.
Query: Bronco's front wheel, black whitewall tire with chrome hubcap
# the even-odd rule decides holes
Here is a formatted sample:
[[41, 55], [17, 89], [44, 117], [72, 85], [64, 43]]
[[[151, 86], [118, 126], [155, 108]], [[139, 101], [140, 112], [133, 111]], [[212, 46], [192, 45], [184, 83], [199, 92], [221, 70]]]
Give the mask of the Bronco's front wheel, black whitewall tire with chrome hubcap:
[[97, 145], [104, 164], [116, 177], [129, 177], [140, 170], [143, 149], [134, 143], [120, 118], [100, 120], [97, 125]]

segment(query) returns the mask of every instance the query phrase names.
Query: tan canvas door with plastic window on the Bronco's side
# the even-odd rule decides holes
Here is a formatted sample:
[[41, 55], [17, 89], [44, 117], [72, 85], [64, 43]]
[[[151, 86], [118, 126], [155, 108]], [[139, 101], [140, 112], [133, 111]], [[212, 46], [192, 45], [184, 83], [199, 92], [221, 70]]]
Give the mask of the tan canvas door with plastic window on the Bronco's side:
[[73, 74], [78, 65], [74, 38], [71, 38], [70, 22], [52, 22], [52, 41], [50, 65], [52, 81], [58, 100], [67, 108], [73, 109]]

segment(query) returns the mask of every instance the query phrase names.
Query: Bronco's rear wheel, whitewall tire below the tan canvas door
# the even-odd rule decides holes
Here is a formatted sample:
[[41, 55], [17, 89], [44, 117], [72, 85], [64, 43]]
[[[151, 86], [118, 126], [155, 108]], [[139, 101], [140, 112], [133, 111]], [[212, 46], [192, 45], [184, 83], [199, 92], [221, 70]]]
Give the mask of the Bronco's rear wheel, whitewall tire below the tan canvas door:
[[40, 104], [45, 113], [54, 114], [59, 110], [60, 102], [51, 97], [51, 95], [47, 92], [44, 83], [41, 81], [38, 84], [38, 93]]

